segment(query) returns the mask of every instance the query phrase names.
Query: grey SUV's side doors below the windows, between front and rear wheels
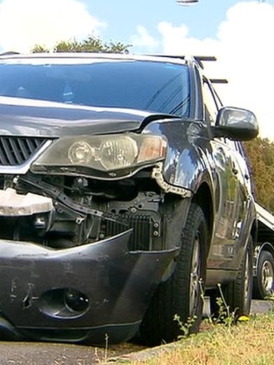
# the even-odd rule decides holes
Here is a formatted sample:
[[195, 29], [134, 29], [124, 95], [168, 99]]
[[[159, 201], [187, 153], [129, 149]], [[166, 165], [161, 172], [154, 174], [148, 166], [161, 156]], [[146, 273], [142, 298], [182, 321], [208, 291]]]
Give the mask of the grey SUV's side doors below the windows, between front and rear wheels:
[[[237, 159], [231, 147], [216, 139], [211, 142], [219, 181], [215, 199], [215, 243], [208, 257], [208, 268], [238, 269], [252, 222], [254, 201], [245, 188]], [[218, 203], [219, 200], [219, 203]]]

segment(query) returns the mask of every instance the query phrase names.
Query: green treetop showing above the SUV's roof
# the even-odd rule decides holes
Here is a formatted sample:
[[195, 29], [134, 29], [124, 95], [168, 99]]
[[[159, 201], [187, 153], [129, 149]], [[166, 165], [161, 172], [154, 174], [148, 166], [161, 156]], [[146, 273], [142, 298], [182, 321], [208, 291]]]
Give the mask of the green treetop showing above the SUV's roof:
[[[129, 53], [131, 45], [122, 42], [104, 42], [101, 38], [90, 35], [82, 41], [72, 39], [71, 41], [60, 41], [55, 45], [53, 52], [108, 52], [108, 53]], [[35, 45], [31, 50], [33, 53], [50, 52], [44, 45]]]

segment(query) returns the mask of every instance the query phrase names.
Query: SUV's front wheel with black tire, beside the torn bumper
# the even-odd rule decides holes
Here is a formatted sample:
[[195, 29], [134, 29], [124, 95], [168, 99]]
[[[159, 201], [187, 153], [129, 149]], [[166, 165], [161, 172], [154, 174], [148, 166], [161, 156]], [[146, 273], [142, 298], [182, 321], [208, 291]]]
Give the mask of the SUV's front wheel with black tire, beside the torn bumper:
[[140, 326], [140, 336], [146, 345], [178, 339], [182, 331], [178, 322], [174, 321], [175, 315], [179, 315], [184, 324], [192, 317], [189, 332], [198, 331], [201, 323], [201, 287], [206, 280], [208, 227], [203, 210], [195, 203], [190, 206], [179, 245], [181, 248], [175, 271], [157, 288]]

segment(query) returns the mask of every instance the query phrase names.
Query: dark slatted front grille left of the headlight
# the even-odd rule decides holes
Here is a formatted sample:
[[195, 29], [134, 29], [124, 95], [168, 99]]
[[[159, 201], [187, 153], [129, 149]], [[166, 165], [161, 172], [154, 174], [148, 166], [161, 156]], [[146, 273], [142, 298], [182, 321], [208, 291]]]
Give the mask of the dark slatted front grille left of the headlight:
[[22, 165], [45, 141], [45, 138], [0, 137], [0, 166]]

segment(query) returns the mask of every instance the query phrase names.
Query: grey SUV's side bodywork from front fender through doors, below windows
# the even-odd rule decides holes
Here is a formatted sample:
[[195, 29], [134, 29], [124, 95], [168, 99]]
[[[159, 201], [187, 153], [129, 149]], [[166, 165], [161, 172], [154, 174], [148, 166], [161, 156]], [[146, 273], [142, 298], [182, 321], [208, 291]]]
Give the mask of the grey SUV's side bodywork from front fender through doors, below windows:
[[240, 190], [240, 177], [233, 174], [235, 157], [229, 146], [211, 140], [208, 127], [199, 122], [152, 122], [143, 133], [167, 137], [168, 155], [163, 173], [168, 183], [194, 194], [201, 184], [208, 185], [214, 202], [208, 269], [237, 271], [254, 211], [247, 191]]

